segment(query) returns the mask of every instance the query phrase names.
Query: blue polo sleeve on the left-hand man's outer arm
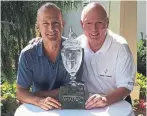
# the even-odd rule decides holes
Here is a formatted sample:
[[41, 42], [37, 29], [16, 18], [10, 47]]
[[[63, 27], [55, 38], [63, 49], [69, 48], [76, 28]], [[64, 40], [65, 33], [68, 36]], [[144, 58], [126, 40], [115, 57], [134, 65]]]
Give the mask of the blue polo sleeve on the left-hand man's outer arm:
[[29, 89], [32, 85], [32, 70], [29, 55], [21, 52], [18, 63], [17, 84], [23, 88]]

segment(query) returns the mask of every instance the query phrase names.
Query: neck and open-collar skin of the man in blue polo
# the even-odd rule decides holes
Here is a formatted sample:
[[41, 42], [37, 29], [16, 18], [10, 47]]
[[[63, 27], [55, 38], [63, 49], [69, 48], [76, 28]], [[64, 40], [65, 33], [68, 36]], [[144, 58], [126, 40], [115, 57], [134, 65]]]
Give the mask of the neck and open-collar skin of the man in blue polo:
[[45, 54], [49, 57], [52, 62], [56, 61], [60, 50], [60, 42], [51, 42], [44, 44]]

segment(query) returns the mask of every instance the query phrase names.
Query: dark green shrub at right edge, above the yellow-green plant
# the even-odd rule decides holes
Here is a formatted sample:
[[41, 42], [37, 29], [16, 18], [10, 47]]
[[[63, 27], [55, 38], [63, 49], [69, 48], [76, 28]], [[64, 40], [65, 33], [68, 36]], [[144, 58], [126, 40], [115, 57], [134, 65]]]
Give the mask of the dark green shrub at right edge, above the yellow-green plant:
[[137, 43], [137, 71], [146, 76], [146, 39], [140, 39]]

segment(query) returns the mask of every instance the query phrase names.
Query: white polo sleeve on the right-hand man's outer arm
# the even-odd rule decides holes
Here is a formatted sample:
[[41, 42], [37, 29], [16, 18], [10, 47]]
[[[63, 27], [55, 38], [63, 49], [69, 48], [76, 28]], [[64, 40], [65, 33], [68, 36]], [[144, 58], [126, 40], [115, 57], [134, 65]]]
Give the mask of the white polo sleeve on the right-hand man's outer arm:
[[127, 44], [123, 44], [119, 50], [116, 64], [116, 86], [133, 90], [136, 74], [136, 66], [133, 56]]

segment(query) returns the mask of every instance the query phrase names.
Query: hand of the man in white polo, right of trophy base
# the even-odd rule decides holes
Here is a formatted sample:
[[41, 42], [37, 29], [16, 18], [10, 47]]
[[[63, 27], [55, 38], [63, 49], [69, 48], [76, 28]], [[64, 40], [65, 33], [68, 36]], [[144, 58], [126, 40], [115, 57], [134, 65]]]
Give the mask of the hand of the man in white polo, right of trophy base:
[[105, 107], [107, 106], [107, 99], [98, 94], [94, 94], [86, 101], [85, 105], [86, 109]]

